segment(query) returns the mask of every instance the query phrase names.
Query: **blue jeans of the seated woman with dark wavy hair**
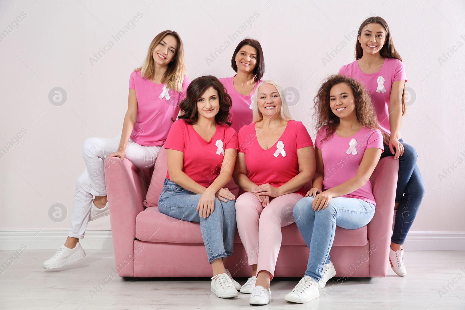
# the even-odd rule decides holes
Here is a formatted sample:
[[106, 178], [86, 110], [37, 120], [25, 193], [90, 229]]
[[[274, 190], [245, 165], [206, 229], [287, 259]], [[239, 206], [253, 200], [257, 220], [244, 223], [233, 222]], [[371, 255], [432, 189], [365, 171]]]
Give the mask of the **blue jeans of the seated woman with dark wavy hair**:
[[236, 233], [235, 200], [226, 199], [227, 202], [223, 202], [215, 198], [213, 213], [207, 218], [202, 218], [196, 211], [200, 196], [202, 195], [194, 194], [165, 178], [158, 200], [158, 210], [172, 218], [200, 222], [208, 262], [211, 264], [219, 257], [233, 255]]

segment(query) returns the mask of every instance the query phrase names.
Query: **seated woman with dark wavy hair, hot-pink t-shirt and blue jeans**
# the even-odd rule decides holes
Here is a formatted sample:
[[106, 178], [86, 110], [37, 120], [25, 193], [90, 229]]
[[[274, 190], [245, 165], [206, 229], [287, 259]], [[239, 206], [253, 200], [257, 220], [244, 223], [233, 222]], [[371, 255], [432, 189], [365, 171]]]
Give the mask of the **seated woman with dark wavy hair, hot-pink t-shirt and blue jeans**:
[[[168, 172], [158, 201], [161, 213], [200, 222], [211, 290], [222, 298], [239, 295], [223, 259], [233, 255], [236, 232], [234, 195], [223, 188], [231, 180], [237, 133], [230, 127], [231, 97], [214, 76], [194, 79], [180, 105], [182, 115], [166, 138]], [[239, 286], [238, 283], [235, 285]]]

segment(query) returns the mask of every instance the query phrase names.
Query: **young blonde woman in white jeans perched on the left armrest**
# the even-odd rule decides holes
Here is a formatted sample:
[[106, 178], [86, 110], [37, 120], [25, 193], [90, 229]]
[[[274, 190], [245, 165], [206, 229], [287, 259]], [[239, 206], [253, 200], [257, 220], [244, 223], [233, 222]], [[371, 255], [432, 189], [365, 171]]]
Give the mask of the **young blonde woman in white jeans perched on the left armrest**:
[[161, 146], [179, 113], [189, 79], [179, 34], [166, 30], [153, 38], [144, 64], [129, 79], [128, 108], [123, 130], [114, 139], [89, 138], [82, 147], [86, 170], [77, 180], [73, 215], [64, 245], [43, 263], [59, 268], [86, 256], [79, 244], [87, 223], [109, 214], [104, 161], [129, 159], [137, 168], [153, 166]]

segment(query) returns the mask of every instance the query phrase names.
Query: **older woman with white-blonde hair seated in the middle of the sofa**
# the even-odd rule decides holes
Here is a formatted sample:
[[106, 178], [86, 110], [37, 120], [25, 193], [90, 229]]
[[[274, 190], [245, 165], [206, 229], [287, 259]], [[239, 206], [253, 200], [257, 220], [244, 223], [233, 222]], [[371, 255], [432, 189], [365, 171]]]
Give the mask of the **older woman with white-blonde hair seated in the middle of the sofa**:
[[281, 227], [294, 222], [292, 209], [315, 173], [313, 142], [292, 119], [281, 86], [259, 83], [253, 122], [239, 130], [234, 181], [245, 191], [236, 200], [236, 222], [252, 277], [240, 291], [251, 304], [270, 302], [270, 281], [281, 247]]

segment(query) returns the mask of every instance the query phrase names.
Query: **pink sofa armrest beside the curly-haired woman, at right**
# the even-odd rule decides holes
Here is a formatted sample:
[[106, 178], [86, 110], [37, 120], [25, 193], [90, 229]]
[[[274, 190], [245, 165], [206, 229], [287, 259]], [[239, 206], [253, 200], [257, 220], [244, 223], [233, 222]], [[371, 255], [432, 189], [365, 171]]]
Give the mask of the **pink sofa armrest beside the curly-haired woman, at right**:
[[370, 178], [376, 202], [375, 214], [367, 225], [371, 277], [385, 277], [387, 272], [398, 171], [399, 160], [388, 156], [379, 160]]

